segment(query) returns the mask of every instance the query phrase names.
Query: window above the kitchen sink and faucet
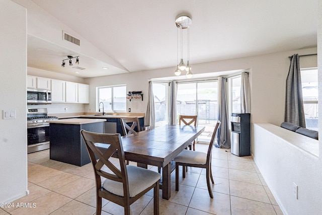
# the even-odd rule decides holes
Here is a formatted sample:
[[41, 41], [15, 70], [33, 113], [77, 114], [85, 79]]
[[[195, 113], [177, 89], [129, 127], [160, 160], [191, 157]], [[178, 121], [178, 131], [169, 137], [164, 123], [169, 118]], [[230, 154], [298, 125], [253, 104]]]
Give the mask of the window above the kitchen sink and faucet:
[[99, 103], [103, 102], [105, 112], [126, 111], [126, 85], [98, 87], [97, 93], [97, 110], [100, 108]]

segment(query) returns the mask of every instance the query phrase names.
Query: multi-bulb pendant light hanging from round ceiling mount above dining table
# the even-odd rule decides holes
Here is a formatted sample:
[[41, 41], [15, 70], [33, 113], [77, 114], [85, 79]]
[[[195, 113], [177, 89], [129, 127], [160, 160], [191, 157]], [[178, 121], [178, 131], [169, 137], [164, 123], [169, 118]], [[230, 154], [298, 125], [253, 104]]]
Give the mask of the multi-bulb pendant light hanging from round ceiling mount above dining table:
[[[187, 78], [191, 78], [192, 77], [192, 72], [191, 72], [191, 66], [189, 64], [189, 59], [190, 59], [189, 27], [191, 25], [191, 18], [188, 17], [188, 16], [185, 16], [185, 15], [184, 16], [179, 16], [176, 19], [176, 25], [177, 25], [177, 28], [180, 29], [181, 59], [180, 59], [180, 63], [177, 64], [177, 69], [175, 71], [175, 75], [180, 76], [181, 71], [187, 71], [187, 73], [186, 73]], [[187, 61], [187, 65], [183, 61], [183, 30], [184, 29], [188, 29], [187, 30], [187, 35], [188, 35], [188, 61]], [[178, 62], [178, 30], [177, 30], [177, 62]]]

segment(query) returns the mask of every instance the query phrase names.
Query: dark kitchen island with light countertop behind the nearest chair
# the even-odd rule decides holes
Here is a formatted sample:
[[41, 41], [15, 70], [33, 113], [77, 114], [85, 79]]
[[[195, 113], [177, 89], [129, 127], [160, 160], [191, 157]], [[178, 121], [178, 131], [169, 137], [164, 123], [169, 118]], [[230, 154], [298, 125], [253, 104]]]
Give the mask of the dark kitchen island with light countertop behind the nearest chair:
[[82, 129], [103, 133], [105, 119], [71, 118], [50, 121], [50, 159], [77, 166], [91, 162]]

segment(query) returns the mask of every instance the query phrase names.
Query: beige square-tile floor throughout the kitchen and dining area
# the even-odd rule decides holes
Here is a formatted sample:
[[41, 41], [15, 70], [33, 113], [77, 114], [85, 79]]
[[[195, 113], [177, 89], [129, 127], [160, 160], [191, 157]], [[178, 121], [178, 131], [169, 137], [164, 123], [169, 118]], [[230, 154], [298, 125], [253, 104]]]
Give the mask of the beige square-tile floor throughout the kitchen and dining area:
[[[208, 146], [197, 144], [196, 151]], [[135, 163], [130, 163], [135, 165]], [[156, 171], [155, 167], [150, 167]], [[224, 149], [213, 149], [212, 185], [208, 194], [205, 171], [189, 168], [175, 191], [175, 172], [171, 175], [171, 198], [164, 200], [160, 191], [160, 214], [283, 214], [252, 157], [237, 157]], [[180, 174], [182, 177], [182, 174]], [[95, 214], [96, 197], [91, 164], [77, 167], [49, 159], [49, 150], [28, 155], [30, 194], [0, 209], [5, 214]], [[153, 214], [153, 192], [131, 205], [131, 214]], [[27, 203], [28, 207], [16, 207]], [[29, 203], [29, 204], [28, 204]], [[103, 200], [102, 214], [123, 214], [123, 207]]]

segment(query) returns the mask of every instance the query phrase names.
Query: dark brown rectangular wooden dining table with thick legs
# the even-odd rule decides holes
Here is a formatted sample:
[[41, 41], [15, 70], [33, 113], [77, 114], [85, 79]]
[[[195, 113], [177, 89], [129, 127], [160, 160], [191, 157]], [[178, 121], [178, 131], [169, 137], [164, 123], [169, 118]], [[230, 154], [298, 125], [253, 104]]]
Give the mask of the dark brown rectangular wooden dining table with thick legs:
[[164, 125], [136, 134], [122, 136], [125, 159], [162, 169], [162, 198], [171, 197], [171, 161], [185, 150], [203, 131], [204, 126]]

